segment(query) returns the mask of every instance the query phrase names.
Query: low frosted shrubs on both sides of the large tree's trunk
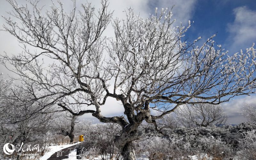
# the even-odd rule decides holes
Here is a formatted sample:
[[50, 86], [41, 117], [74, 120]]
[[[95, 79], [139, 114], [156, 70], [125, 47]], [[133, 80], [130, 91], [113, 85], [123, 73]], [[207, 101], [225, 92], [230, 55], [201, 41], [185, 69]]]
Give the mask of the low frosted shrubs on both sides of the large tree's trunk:
[[[172, 128], [166, 132], [169, 136], [163, 136], [154, 130], [153, 125], [143, 123], [134, 150], [137, 157], [159, 160], [189, 160], [194, 156], [205, 158], [206, 155], [213, 159], [253, 159], [255, 131], [256, 124], [242, 123], [236, 126]], [[114, 146], [114, 135], [118, 132], [120, 128], [114, 124], [92, 125], [85, 131], [85, 143], [77, 147], [78, 158], [90, 159], [94, 155], [102, 159], [117, 159], [119, 151]]]

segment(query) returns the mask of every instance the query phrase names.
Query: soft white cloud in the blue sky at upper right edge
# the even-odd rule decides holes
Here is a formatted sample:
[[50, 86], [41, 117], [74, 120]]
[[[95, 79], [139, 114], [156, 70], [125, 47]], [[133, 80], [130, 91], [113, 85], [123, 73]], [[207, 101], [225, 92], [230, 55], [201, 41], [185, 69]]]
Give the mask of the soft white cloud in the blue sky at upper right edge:
[[231, 52], [239, 49], [249, 48], [256, 41], [256, 11], [252, 11], [246, 6], [238, 7], [234, 10], [235, 20], [227, 25], [229, 36], [226, 44]]

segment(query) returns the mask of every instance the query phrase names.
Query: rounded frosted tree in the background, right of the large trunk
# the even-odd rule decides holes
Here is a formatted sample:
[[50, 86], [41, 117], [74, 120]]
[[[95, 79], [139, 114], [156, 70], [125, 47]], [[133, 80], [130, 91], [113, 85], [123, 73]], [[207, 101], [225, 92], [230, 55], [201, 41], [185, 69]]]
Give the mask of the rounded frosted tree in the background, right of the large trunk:
[[227, 121], [227, 114], [220, 105], [187, 104], [175, 110], [180, 124], [186, 127], [219, 126]]

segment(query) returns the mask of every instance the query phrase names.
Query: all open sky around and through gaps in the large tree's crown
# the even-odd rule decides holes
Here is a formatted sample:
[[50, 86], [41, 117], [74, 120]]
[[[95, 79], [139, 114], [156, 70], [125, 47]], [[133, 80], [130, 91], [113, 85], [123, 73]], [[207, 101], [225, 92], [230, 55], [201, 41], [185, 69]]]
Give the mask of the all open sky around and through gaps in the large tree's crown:
[[[88, 0], [100, 8], [100, 0]], [[70, 1], [65, 2], [65, 9], [70, 9]], [[84, 0], [76, 0], [78, 4], [84, 3]], [[25, 4], [25, 0], [19, 0], [18, 3]], [[51, 0], [44, 0], [45, 7], [51, 5]], [[149, 13], [154, 13], [155, 8], [172, 8], [176, 22], [174, 25], [187, 26], [188, 20], [194, 23], [186, 33], [186, 37], [192, 42], [202, 36], [201, 43], [213, 34], [217, 33], [214, 40], [222, 45], [222, 48], [229, 50], [229, 54], [239, 52], [240, 49], [246, 49], [256, 42], [256, 1], [255, 0], [109, 0], [109, 9], [114, 10], [113, 17], [125, 18], [123, 12], [127, 7], [134, 8], [135, 12], [142, 17], [148, 17]], [[78, 5], [79, 6], [79, 5]], [[10, 11], [11, 7], [6, 1], [2, 1], [0, 5], [0, 14], [6, 15], [6, 11]], [[3, 18], [0, 19], [0, 26], [4, 23]], [[2, 28], [2, 27], [0, 27]], [[114, 36], [113, 28], [109, 26], [105, 34]], [[20, 52], [17, 40], [10, 34], [0, 31], [0, 54], [7, 51], [8, 54], [16, 54]], [[10, 74], [6, 69], [0, 66], [0, 73], [5, 76]], [[245, 119], [238, 113], [244, 102], [256, 105], [256, 95], [236, 97], [233, 101], [223, 103], [225, 111], [229, 119], [228, 123], [238, 124]], [[104, 116], [122, 115], [124, 110], [115, 100], [107, 100], [106, 106], [102, 107]], [[85, 115], [85, 118], [92, 116]], [[94, 119], [95, 120], [95, 119]]]

